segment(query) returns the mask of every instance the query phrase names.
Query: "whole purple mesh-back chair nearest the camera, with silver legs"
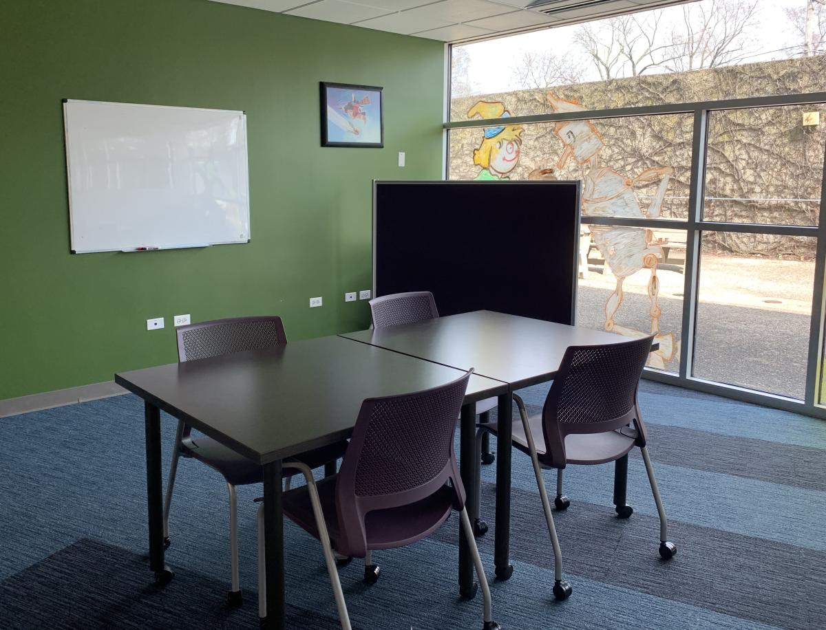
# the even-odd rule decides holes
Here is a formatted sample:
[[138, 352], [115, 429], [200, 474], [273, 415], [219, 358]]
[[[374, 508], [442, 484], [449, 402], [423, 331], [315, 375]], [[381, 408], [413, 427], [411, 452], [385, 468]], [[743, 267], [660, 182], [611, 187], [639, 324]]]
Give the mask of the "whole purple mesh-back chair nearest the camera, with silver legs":
[[[316, 482], [308, 467], [283, 462], [284, 467], [299, 468], [307, 482], [284, 493], [284, 514], [319, 538], [345, 630], [350, 628], [349, 618], [333, 550], [369, 560], [374, 550], [404, 547], [429, 536], [453, 510], [460, 513], [482, 586], [484, 628], [499, 628], [491, 618], [491, 593], [453, 452], [456, 417], [471, 373], [430, 390], [364, 400], [335, 476]], [[260, 523], [261, 519], [259, 558], [264, 552]], [[259, 596], [261, 566], [259, 561]], [[259, 599], [262, 617], [266, 615], [263, 602]]]

